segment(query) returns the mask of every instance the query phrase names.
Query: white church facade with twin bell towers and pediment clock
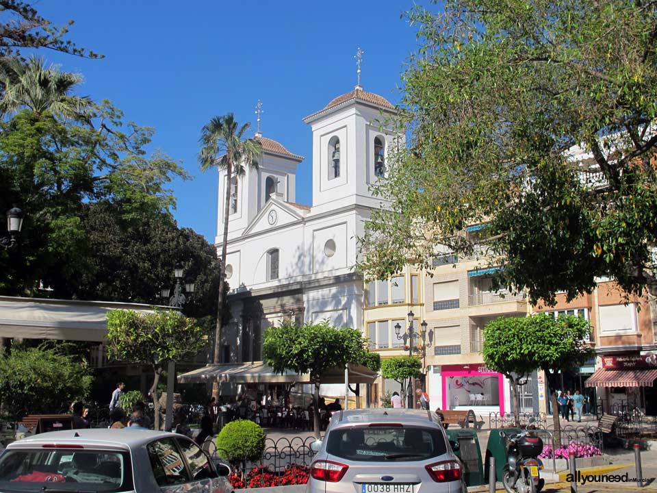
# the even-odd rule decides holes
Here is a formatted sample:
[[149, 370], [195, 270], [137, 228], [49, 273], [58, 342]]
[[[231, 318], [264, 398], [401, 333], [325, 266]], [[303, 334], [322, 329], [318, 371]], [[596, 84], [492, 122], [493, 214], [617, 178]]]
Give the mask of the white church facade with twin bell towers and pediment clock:
[[[263, 137], [258, 168], [234, 177], [226, 274], [232, 318], [222, 331], [222, 363], [261, 360], [262, 334], [286, 318], [328, 319], [364, 329], [357, 236], [372, 208], [370, 186], [385, 175], [398, 135], [378, 121], [394, 116], [386, 99], [360, 86], [304, 118], [313, 132], [311, 205], [296, 197], [303, 158]], [[383, 118], [382, 118], [383, 117]], [[223, 238], [225, 171], [219, 174], [218, 247]]]

